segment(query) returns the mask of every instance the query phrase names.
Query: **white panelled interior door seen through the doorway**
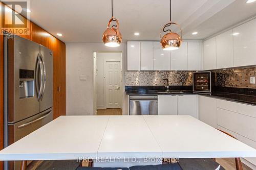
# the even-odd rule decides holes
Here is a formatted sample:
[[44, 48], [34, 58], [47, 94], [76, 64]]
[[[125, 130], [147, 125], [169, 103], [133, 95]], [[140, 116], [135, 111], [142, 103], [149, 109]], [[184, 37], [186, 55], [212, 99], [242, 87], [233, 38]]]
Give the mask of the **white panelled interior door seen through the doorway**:
[[106, 108], [120, 108], [121, 65], [120, 61], [106, 61]]

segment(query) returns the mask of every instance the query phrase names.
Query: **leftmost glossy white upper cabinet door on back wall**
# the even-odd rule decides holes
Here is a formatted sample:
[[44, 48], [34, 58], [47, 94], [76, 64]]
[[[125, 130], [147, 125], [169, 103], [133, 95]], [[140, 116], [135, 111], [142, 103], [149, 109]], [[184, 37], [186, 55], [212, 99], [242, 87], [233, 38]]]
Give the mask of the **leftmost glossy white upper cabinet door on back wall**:
[[127, 41], [127, 70], [140, 70], [139, 41]]

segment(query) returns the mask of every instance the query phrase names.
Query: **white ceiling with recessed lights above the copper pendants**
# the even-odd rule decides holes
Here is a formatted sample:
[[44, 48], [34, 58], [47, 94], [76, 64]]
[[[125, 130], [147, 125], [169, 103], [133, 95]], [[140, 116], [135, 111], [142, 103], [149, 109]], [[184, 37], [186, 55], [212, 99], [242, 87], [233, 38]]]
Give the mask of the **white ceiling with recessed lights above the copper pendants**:
[[[192, 3], [193, 2], [193, 3]], [[172, 18], [183, 39], [205, 39], [256, 15], [256, 2], [246, 0], [173, 0]], [[168, 0], [113, 0], [123, 41], [159, 40], [169, 21]], [[111, 0], [30, 0], [30, 19], [64, 42], [101, 42], [111, 17]], [[197, 31], [197, 35], [191, 35]], [[135, 36], [139, 32], [140, 36]]]

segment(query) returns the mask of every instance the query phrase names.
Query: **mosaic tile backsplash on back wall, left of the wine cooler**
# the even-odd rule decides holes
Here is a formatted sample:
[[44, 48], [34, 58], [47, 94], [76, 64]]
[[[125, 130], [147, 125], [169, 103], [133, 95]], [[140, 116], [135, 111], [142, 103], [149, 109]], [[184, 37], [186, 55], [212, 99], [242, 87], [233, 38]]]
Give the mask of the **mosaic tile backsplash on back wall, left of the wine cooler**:
[[125, 71], [125, 86], [164, 86], [168, 78], [169, 85], [193, 85], [192, 71]]

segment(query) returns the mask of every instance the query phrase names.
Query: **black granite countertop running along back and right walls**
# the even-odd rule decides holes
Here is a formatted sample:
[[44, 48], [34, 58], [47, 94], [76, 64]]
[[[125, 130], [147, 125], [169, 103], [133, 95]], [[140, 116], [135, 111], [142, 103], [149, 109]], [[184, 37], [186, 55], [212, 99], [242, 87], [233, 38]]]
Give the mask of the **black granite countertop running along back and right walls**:
[[[229, 92], [229, 89], [225, 88], [224, 92], [221, 89], [216, 89], [212, 93], [195, 93], [192, 90], [191, 86], [169, 86], [170, 91], [172, 93], [161, 93], [165, 91], [164, 86], [125, 86], [125, 92], [127, 95], [182, 95], [182, 94], [200, 94], [204, 96], [209, 96], [211, 98], [223, 99], [232, 102], [244, 103], [248, 105], [256, 106], [256, 95], [255, 92], [251, 92], [248, 94], [241, 94], [241, 91], [233, 91]], [[181, 92], [182, 93], [181, 93]]]

